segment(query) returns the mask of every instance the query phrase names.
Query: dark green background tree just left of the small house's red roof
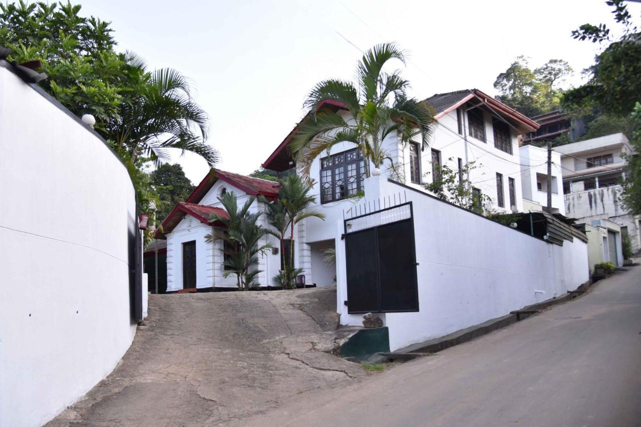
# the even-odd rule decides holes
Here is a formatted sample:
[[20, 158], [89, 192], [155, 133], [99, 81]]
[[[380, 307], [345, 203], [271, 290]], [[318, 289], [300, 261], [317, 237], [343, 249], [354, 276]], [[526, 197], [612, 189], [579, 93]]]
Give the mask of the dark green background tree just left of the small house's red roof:
[[151, 172], [151, 184], [158, 192], [160, 204], [156, 206], [156, 218], [161, 222], [171, 213], [178, 202], [185, 202], [196, 188], [185, 176], [182, 166], [178, 163], [165, 163]]

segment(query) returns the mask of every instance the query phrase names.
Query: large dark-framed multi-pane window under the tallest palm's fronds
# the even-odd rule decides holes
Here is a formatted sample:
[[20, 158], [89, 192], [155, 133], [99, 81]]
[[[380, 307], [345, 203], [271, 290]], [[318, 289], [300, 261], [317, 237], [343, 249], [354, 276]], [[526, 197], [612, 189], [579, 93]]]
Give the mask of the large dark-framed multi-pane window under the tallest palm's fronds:
[[344, 151], [320, 159], [320, 202], [354, 195], [363, 189], [365, 162], [360, 150]]

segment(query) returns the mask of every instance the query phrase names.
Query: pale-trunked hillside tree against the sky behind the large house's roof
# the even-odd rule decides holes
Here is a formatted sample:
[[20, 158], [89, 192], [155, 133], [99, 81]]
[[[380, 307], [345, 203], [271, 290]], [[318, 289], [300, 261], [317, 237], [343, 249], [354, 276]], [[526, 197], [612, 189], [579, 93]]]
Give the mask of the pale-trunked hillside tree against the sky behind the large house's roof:
[[496, 77], [494, 88], [500, 93], [499, 101], [532, 117], [560, 107], [560, 86], [570, 74], [572, 68], [566, 61], [549, 60], [532, 70], [528, 58], [519, 56]]

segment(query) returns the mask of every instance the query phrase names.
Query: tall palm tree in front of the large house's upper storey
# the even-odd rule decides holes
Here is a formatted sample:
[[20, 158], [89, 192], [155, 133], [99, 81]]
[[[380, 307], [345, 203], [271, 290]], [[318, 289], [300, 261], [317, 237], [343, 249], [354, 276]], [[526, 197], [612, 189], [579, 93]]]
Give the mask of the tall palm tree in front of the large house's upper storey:
[[[296, 157], [299, 171], [310, 177], [313, 161], [329, 151], [337, 143], [349, 141], [361, 150], [365, 161], [365, 173], [369, 177], [369, 162], [375, 168], [385, 159], [392, 159], [385, 151], [383, 140], [397, 133], [403, 144], [420, 136], [422, 149], [428, 145], [433, 134], [433, 109], [424, 102], [408, 98], [406, 90], [410, 83], [395, 70], [383, 71], [390, 60], [405, 63], [405, 52], [395, 44], [374, 46], [363, 54], [358, 64], [358, 83], [330, 79], [321, 81], [309, 93], [304, 106], [308, 120], [298, 125], [297, 133], [288, 147]], [[323, 101], [337, 101], [346, 108], [353, 120], [345, 120], [337, 113], [318, 111]], [[393, 165], [390, 165], [393, 166]]]

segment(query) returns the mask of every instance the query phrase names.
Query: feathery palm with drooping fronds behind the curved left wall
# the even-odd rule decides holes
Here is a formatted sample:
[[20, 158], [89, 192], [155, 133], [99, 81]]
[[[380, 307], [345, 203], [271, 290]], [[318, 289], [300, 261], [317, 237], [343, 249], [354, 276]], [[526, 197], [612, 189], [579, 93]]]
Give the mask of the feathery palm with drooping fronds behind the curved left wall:
[[[128, 53], [133, 70], [144, 70], [144, 61]], [[140, 68], [138, 68], [140, 67]], [[128, 163], [145, 156], [156, 165], [169, 161], [169, 149], [190, 151], [203, 157], [210, 166], [219, 154], [205, 141], [208, 117], [194, 101], [187, 78], [172, 68], [154, 72], [132, 72], [129, 80], [138, 86], [133, 99], [125, 97], [119, 117], [108, 125], [115, 151]]]

